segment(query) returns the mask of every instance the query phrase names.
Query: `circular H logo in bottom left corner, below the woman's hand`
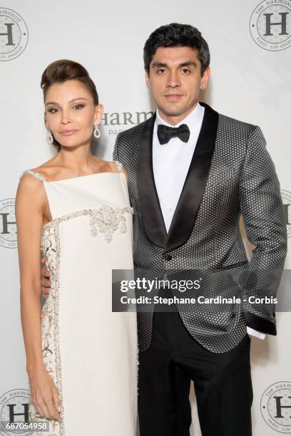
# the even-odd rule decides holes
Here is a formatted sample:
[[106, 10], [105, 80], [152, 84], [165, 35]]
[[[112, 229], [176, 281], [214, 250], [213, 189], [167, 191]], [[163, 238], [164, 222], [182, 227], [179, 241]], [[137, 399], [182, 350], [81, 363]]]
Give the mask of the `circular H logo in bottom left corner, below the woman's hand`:
[[24, 422], [29, 422], [29, 391], [9, 390], [0, 397], [0, 435], [28, 436]]

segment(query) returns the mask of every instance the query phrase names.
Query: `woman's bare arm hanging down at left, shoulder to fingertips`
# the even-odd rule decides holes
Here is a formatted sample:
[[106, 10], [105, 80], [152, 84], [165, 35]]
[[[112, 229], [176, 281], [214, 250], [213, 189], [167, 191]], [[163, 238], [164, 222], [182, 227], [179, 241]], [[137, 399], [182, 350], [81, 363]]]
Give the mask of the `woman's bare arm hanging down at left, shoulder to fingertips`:
[[60, 419], [60, 405], [53, 379], [47, 373], [41, 353], [41, 227], [46, 194], [42, 182], [24, 175], [16, 194], [16, 224], [19, 249], [21, 324], [26, 350], [26, 370], [31, 401], [48, 419]]

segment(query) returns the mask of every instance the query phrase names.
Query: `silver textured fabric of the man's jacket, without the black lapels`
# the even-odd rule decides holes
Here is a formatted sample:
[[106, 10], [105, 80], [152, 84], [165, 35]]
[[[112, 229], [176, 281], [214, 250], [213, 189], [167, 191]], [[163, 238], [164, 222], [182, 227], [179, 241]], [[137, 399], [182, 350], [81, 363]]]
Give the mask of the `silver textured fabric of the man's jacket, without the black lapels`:
[[[205, 108], [213, 111], [208, 105]], [[259, 127], [225, 115], [217, 114], [217, 118], [210, 170], [193, 228], [185, 243], [166, 252], [163, 244], [155, 244], [148, 237], [137, 181], [138, 160], [144, 147], [143, 130], [148, 128], [150, 120], [118, 135], [114, 159], [121, 161], [128, 172], [134, 210], [134, 264], [145, 271], [189, 270], [189, 277], [191, 270], [228, 270], [233, 273], [236, 294], [259, 295], [263, 291], [274, 296], [287, 251], [285, 216], [275, 167]], [[207, 132], [208, 126], [204, 129]], [[195, 196], [195, 186], [190, 189]], [[256, 246], [250, 263], [240, 235], [241, 214], [247, 237]], [[184, 218], [187, 222], [187, 217]], [[277, 273], [272, 284], [264, 280], [264, 271], [270, 269]], [[259, 271], [259, 277], [251, 275], [251, 271]], [[241, 272], [243, 279], [238, 279]], [[220, 274], [215, 278], [213, 283], [223, 292], [223, 279]], [[246, 325], [276, 334], [273, 306], [245, 303], [245, 306], [233, 306], [230, 311], [220, 311], [213, 306], [207, 309], [180, 305], [178, 311], [193, 338], [213, 353], [234, 348], [245, 336]], [[138, 313], [140, 351], [150, 346], [152, 320], [150, 310]]]

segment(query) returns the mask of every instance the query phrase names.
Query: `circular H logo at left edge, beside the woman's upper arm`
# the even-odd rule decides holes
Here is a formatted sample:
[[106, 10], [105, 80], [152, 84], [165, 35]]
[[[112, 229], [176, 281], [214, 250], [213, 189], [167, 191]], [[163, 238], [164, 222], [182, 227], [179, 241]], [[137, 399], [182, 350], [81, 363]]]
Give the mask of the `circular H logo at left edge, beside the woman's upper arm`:
[[0, 246], [17, 247], [14, 198], [0, 200]]

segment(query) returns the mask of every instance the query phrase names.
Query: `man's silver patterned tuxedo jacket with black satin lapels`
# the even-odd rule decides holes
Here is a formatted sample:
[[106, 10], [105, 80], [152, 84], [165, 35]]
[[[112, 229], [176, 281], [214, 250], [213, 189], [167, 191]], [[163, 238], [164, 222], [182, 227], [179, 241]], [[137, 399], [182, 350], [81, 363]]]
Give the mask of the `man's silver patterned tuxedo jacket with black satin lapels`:
[[[128, 172], [136, 269], [167, 276], [183, 270], [194, 279], [199, 271], [200, 278], [211, 276], [200, 294], [242, 297], [241, 304], [228, 308], [177, 304], [193, 338], [209, 351], [223, 353], [238, 345], [246, 326], [276, 334], [274, 304], [250, 303], [249, 297], [275, 296], [287, 234], [280, 185], [260, 128], [200, 104], [205, 107], [203, 124], [168, 234], [153, 177], [155, 115], [118, 135], [114, 158]], [[255, 245], [250, 262], [240, 215]], [[140, 351], [150, 346], [152, 324], [153, 308], [138, 312]]]

